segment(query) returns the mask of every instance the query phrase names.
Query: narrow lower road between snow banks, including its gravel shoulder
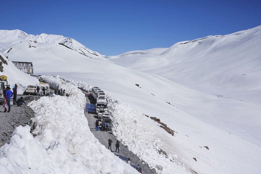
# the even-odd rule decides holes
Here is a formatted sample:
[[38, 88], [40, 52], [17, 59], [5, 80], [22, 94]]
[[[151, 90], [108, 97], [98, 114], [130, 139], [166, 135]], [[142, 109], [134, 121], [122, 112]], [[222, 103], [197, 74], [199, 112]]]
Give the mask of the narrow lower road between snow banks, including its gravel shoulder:
[[[87, 97], [86, 98], [86, 112], [85, 117], [88, 120], [89, 128], [92, 131], [93, 135], [99, 140], [101, 144], [103, 144], [106, 148], [108, 148], [108, 139], [111, 137], [113, 143], [112, 143], [112, 152], [114, 155], [118, 156], [120, 159], [122, 159], [124, 162], [128, 161], [128, 158], [131, 158], [131, 166], [133, 168], [137, 167], [137, 164], [140, 164], [142, 166], [142, 173], [144, 174], [154, 174], [151, 169], [146, 166], [146, 164], [142, 164], [142, 161], [139, 160], [139, 158], [134, 155], [132, 152], [128, 151], [128, 149], [123, 146], [120, 143], [120, 150], [119, 153], [115, 152], [115, 144], [116, 144], [116, 137], [111, 133], [111, 131], [102, 131], [99, 129], [99, 131], [96, 131], [95, 128], [95, 122], [98, 119], [97, 113], [96, 113], [96, 106], [95, 106], [96, 101], [93, 99], [93, 97]], [[101, 128], [101, 126], [99, 126]]]

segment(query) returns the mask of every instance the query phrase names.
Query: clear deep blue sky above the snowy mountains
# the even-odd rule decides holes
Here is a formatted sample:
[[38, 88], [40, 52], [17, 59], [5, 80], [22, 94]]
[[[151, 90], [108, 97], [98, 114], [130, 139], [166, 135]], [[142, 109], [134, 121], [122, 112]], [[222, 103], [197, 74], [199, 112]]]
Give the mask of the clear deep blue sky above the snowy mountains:
[[2, 1], [1, 27], [71, 37], [103, 55], [261, 25], [261, 1]]

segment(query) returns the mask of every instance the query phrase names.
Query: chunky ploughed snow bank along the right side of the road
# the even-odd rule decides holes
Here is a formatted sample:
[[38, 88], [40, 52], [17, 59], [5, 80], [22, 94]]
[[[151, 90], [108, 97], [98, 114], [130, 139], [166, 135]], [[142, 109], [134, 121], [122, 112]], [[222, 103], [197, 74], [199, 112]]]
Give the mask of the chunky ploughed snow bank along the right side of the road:
[[[76, 82], [73, 80], [65, 80], [74, 85], [77, 85], [83, 90], [90, 90], [92, 86], [85, 82]], [[172, 159], [172, 155], [165, 156], [159, 153], [161, 140], [155, 138], [154, 121], [145, 117], [142, 113], [135, 112], [126, 103], [123, 103], [111, 95], [107, 95], [108, 107], [112, 110], [112, 133], [119, 139], [122, 144], [128, 146], [128, 149], [137, 155], [141, 160], [148, 163], [150, 168], [155, 168], [157, 173], [190, 173], [189, 168], [184, 170], [183, 166], [178, 166], [178, 163]], [[152, 126], [153, 125], [153, 126]], [[161, 128], [160, 128], [161, 129]], [[181, 171], [180, 171], [181, 170]]]

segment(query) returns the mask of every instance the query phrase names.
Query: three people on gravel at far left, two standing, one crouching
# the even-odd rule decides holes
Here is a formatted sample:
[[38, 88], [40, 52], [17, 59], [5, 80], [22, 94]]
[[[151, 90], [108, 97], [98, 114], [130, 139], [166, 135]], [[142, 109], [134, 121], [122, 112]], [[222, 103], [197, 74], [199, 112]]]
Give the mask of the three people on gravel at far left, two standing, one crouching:
[[[13, 105], [16, 104], [17, 106], [22, 106], [23, 103], [27, 104], [23, 97], [20, 97], [18, 100], [16, 100], [16, 97], [17, 97], [17, 84], [14, 85], [14, 87], [12, 88], [12, 90], [14, 92], [12, 92], [10, 89], [9, 86], [6, 87], [6, 93], [5, 93], [5, 99], [4, 99], [4, 105], [3, 107], [5, 108], [4, 112], [8, 112], [10, 113], [10, 110], [11, 110], [11, 104], [10, 104], [10, 101], [11, 101], [11, 97], [13, 97]], [[7, 106], [8, 106], [8, 110], [7, 110]]]

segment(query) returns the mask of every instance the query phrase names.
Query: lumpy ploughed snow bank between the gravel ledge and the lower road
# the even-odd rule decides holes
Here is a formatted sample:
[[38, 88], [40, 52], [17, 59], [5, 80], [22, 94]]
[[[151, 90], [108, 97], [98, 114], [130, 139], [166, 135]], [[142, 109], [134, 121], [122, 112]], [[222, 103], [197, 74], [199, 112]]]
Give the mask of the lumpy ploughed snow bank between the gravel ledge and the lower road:
[[91, 133], [84, 116], [86, 99], [76, 86], [59, 77], [42, 77], [51, 87], [66, 89], [70, 97], [53, 95], [30, 102], [35, 111], [29, 126], [15, 129], [0, 148], [1, 172], [11, 173], [137, 173], [113, 155]]

